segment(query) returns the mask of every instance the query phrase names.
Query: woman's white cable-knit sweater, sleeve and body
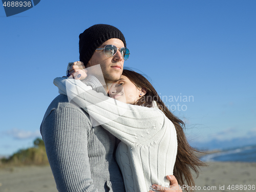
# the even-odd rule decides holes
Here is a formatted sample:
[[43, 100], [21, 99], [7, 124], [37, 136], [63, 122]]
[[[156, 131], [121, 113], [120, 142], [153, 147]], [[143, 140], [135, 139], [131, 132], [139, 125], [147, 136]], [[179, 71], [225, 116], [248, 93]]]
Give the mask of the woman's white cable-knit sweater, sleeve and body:
[[174, 124], [155, 101], [153, 108], [146, 108], [106, 97], [80, 80], [56, 78], [54, 84], [91, 120], [121, 140], [116, 159], [126, 192], [147, 192], [152, 184], [169, 185], [165, 176], [173, 175], [177, 136]]

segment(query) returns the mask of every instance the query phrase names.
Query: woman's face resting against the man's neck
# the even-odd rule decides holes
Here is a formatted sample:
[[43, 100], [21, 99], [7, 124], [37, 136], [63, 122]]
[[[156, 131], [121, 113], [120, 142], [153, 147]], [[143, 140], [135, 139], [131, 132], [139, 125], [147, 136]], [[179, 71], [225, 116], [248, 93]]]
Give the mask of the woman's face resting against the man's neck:
[[118, 81], [112, 84], [109, 95], [111, 98], [121, 102], [133, 104], [143, 96], [144, 93], [142, 93], [141, 89], [138, 89], [129, 78], [122, 75]]

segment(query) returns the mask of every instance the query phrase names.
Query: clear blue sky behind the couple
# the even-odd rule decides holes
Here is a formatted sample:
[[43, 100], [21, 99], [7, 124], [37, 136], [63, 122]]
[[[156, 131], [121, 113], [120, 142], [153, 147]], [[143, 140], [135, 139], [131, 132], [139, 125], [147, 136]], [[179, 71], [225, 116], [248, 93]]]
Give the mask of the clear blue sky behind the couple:
[[40, 136], [58, 95], [53, 79], [79, 59], [78, 35], [94, 24], [122, 31], [131, 52], [124, 65], [150, 77], [186, 122], [188, 140], [256, 137], [255, 7], [253, 0], [45, 0], [10, 17], [0, 8], [0, 155]]

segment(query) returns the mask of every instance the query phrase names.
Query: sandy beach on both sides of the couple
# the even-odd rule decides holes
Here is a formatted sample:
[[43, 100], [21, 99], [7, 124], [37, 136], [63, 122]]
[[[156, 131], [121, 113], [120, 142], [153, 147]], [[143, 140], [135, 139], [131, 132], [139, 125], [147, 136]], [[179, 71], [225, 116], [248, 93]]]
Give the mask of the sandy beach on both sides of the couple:
[[[248, 190], [249, 185], [256, 185], [256, 163], [208, 162], [207, 164], [209, 166], [202, 167], [201, 174], [196, 179], [195, 191], [256, 191], [256, 189]], [[240, 188], [236, 189], [236, 185]], [[0, 192], [7, 191], [57, 192], [57, 189], [50, 166], [26, 166], [0, 169]]]

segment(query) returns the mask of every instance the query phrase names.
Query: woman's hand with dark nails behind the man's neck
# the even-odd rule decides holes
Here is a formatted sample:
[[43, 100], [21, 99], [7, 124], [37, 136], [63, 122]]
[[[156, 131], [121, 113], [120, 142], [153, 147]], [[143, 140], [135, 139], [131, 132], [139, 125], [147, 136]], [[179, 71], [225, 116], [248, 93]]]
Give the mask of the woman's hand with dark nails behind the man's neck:
[[73, 64], [70, 66], [68, 70], [67, 76], [74, 79], [85, 79], [87, 77], [87, 70], [86, 67], [83, 65], [83, 62], [73, 62]]

